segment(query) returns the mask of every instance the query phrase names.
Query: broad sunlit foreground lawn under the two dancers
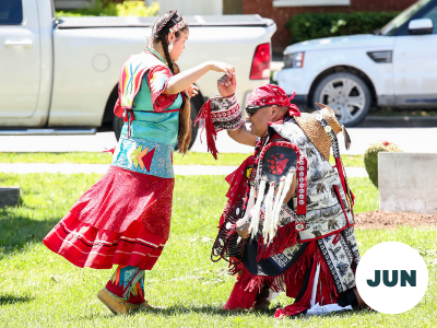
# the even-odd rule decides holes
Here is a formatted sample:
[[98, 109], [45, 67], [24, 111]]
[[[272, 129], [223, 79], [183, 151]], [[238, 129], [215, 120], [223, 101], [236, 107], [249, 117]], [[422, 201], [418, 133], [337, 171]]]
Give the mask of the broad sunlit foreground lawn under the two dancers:
[[[222, 313], [235, 279], [226, 262], [210, 251], [225, 203], [223, 176], [177, 176], [172, 234], [153, 271], [145, 277], [146, 298], [164, 311], [113, 316], [97, 300], [113, 270], [80, 269], [48, 250], [42, 239], [98, 175], [3, 174], [0, 186], [19, 185], [22, 206], [0, 210], [0, 327], [437, 327], [437, 231], [414, 227], [357, 230], [365, 253], [385, 241], [421, 250], [429, 272], [420, 304], [401, 315], [349, 312], [328, 317], [275, 320], [267, 313]], [[378, 208], [367, 178], [351, 178], [356, 211]], [[273, 306], [291, 302], [280, 295]]]

